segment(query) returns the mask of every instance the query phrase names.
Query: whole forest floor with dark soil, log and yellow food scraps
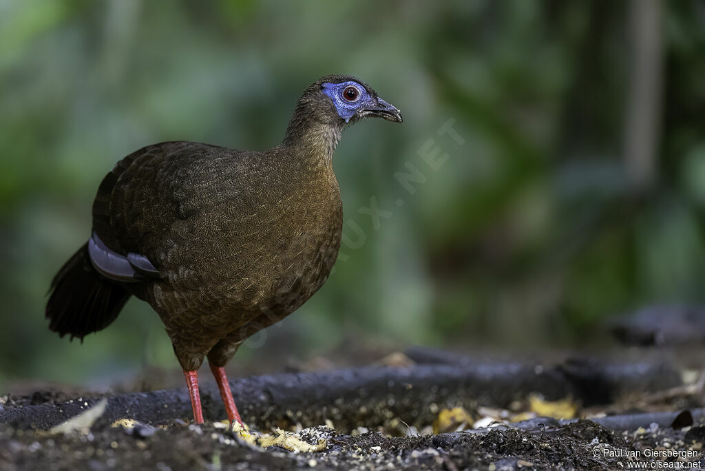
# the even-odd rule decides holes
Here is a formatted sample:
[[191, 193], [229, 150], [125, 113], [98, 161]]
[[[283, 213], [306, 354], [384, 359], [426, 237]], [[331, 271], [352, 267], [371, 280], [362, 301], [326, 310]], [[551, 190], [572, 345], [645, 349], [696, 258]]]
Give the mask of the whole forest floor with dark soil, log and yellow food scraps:
[[[188, 422], [178, 389], [111, 396], [97, 420], [68, 434], [47, 429], [97, 399], [2, 396], [0, 470], [705, 467], [697, 372], [651, 360], [517, 366], [427, 350], [390, 361], [396, 365], [233, 381], [253, 429], [276, 435], [281, 427], [312, 445], [325, 439], [316, 452], [243, 439], [213, 421], [221, 406], [207, 388], [206, 424]], [[140, 422], [112, 427], [120, 417]]]

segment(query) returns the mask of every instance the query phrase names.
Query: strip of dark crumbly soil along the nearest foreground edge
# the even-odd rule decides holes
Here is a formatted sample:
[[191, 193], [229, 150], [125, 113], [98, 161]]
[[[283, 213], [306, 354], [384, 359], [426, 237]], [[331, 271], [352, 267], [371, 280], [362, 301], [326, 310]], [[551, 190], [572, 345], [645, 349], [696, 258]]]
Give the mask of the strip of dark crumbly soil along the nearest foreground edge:
[[[558, 429], [556, 434], [534, 434], [514, 429], [482, 434], [438, 434], [390, 437], [379, 432], [349, 436], [332, 432], [326, 451], [293, 453], [284, 448], [257, 448], [238, 441], [237, 434], [201, 426], [173, 424], [141, 438], [121, 428], [103, 427], [86, 435], [39, 436], [4, 427], [0, 433], [0, 467], [4, 470], [285, 470], [319, 469], [619, 469], [627, 458], [606, 451], [678, 448], [689, 432], [647, 430], [611, 432], [589, 421]], [[596, 450], [599, 455], [596, 456]], [[692, 458], [690, 461], [698, 460]], [[705, 465], [705, 464], [704, 464]]]

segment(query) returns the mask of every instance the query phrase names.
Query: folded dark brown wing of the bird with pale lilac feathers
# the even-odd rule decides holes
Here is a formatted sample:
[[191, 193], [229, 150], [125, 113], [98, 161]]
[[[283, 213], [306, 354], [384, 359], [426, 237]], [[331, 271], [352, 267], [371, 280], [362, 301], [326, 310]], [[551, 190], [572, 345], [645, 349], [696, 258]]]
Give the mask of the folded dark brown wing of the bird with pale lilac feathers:
[[250, 203], [240, 190], [254, 166], [242, 154], [197, 142], [162, 142], [119, 161], [93, 204], [94, 267], [129, 282], [193, 266], [195, 254], [209, 252], [211, 232], [227, 219], [223, 212], [250, 209], [243, 207]]

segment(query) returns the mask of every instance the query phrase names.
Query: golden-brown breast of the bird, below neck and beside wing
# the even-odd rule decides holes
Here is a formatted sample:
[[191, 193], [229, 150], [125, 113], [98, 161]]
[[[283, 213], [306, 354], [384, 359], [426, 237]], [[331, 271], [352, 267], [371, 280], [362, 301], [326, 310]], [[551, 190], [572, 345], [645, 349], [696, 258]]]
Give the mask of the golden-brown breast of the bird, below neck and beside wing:
[[341, 229], [334, 177], [269, 188], [247, 202], [235, 195], [172, 226], [166, 259], [173, 268], [154, 300], [233, 324], [262, 312], [286, 316], [326, 281]]

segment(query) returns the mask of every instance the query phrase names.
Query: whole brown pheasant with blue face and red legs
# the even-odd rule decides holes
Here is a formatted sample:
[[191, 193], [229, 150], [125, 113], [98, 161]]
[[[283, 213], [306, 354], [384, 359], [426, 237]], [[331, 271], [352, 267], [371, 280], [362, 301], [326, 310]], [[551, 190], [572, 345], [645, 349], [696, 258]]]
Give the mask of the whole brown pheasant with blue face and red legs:
[[333, 151], [368, 115], [401, 121], [364, 82], [329, 75], [305, 90], [272, 149], [164, 142], [125, 157], [99, 187], [91, 240], [52, 283], [50, 329], [82, 338], [135, 295], [161, 317], [187, 380], [206, 356], [216, 373], [326, 281], [343, 221]]

